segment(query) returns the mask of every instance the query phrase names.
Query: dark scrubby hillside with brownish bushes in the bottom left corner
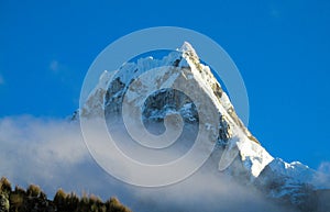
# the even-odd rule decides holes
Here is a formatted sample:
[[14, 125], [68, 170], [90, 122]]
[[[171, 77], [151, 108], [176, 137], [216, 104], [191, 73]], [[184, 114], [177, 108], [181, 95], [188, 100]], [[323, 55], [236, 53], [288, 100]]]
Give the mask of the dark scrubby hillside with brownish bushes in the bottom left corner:
[[130, 212], [117, 198], [102, 202], [96, 196], [79, 198], [59, 189], [54, 199], [47, 199], [38, 186], [26, 190], [15, 187], [2, 177], [0, 180], [0, 212]]

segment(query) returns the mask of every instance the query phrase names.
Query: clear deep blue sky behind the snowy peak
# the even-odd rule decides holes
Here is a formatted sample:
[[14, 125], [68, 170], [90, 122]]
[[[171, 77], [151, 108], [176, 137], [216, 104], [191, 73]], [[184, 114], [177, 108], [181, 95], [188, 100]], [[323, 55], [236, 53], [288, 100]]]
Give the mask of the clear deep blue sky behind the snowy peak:
[[[329, 1], [0, 1], [0, 118], [65, 118], [111, 42], [151, 26], [204, 33], [232, 57], [250, 130], [274, 156], [330, 161]], [[194, 45], [194, 44], [193, 44]]]

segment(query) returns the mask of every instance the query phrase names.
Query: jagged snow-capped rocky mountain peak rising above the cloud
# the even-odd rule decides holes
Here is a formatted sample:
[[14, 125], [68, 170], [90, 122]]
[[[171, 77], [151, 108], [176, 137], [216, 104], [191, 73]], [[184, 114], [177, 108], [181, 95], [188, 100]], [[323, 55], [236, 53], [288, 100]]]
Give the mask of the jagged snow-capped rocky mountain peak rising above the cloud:
[[[202, 125], [209, 137], [205, 144], [216, 142], [211, 166], [218, 171], [301, 211], [330, 211], [326, 202], [329, 178], [298, 161], [288, 164], [271, 156], [244, 126], [211, 69], [189, 43], [162, 59], [140, 58], [116, 71], [106, 70], [80, 109], [80, 118], [121, 116], [112, 122], [122, 122], [128, 115], [123, 114], [124, 103], [139, 109], [129, 116], [141, 119], [145, 127], [164, 122], [178, 127], [180, 121], [191, 127]], [[199, 111], [201, 105], [216, 112]], [[170, 116], [174, 119], [168, 121]], [[320, 177], [327, 180], [320, 183]]]

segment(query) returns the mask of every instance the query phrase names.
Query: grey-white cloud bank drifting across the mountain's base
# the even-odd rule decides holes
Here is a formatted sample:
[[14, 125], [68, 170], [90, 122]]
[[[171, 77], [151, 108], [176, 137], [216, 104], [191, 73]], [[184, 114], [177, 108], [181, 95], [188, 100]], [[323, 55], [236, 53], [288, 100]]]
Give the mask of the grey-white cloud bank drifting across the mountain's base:
[[[51, 198], [61, 187], [103, 200], [117, 196], [135, 212], [285, 211], [253, 188], [215, 171], [217, 166], [209, 167], [169, 187], [133, 187], [110, 177], [94, 161], [78, 123], [29, 115], [0, 119], [0, 174], [13, 185], [37, 183]], [[136, 170], [135, 175], [143, 174]]]

